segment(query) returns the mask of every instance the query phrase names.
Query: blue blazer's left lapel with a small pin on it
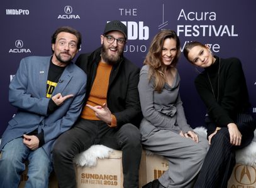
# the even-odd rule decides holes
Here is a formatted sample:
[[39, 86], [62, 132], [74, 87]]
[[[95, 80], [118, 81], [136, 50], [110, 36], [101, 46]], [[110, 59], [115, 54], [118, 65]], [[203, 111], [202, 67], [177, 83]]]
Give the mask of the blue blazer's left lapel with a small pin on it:
[[47, 92], [47, 77], [48, 77], [48, 70], [50, 66], [50, 60], [51, 56], [45, 58], [42, 62], [37, 62], [40, 63], [40, 69], [39, 69], [39, 90], [40, 90], [40, 97], [46, 97], [46, 92]]

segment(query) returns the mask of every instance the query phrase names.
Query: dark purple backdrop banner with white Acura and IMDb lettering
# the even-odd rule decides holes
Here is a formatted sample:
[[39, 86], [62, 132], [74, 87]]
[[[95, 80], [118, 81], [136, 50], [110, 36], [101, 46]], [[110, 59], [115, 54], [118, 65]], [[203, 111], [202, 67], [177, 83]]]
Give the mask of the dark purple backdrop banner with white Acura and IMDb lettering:
[[[8, 90], [21, 58], [51, 55], [51, 36], [60, 26], [71, 26], [82, 33], [79, 54], [92, 51], [100, 46], [104, 25], [114, 19], [128, 27], [125, 56], [140, 67], [150, 41], [160, 29], [177, 32], [181, 51], [187, 42], [197, 40], [209, 44], [213, 53], [221, 58], [239, 58], [247, 79], [250, 110], [255, 117], [255, 7], [255, 1], [220, 0], [207, 3], [204, 0], [1, 1], [0, 137], [16, 112], [9, 104]], [[194, 86], [198, 72], [183, 55], [177, 68], [187, 121], [193, 128], [203, 126], [206, 107]]]

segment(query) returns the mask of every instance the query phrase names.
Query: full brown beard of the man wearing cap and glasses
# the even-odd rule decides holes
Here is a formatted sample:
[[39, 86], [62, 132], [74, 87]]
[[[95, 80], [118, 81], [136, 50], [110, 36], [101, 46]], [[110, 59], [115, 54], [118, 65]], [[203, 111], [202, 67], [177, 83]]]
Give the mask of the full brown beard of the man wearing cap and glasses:
[[114, 65], [120, 61], [120, 58], [123, 55], [123, 49], [117, 50], [118, 53], [116, 55], [108, 55], [108, 46], [104, 45], [103, 43], [101, 45], [101, 58], [103, 58], [103, 60], [109, 65]]

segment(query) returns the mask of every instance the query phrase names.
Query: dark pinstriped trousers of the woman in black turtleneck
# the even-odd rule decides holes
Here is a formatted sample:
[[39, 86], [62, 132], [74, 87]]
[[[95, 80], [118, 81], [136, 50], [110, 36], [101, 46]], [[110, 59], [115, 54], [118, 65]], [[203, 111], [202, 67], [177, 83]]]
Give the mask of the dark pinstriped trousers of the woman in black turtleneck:
[[[216, 123], [206, 122], [209, 127]], [[227, 127], [221, 127], [216, 135], [211, 139], [211, 146], [204, 159], [203, 166], [199, 172], [195, 188], [226, 188], [228, 180], [236, 164], [235, 150], [242, 149], [252, 142], [255, 130], [255, 122], [250, 115], [238, 117], [237, 126], [242, 133], [242, 143], [240, 146], [230, 144], [230, 133]], [[208, 130], [208, 136], [213, 133], [213, 129]]]

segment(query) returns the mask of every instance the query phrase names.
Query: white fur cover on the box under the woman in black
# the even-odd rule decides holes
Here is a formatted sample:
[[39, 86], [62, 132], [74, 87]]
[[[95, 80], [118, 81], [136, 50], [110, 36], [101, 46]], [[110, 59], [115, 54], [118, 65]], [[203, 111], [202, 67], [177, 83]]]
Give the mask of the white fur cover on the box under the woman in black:
[[[206, 128], [197, 127], [194, 132], [198, 133], [199, 136], [206, 138]], [[252, 142], [243, 149], [236, 151], [237, 163], [256, 166], [256, 130], [254, 131], [254, 138]]]

